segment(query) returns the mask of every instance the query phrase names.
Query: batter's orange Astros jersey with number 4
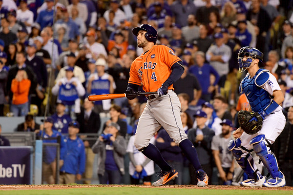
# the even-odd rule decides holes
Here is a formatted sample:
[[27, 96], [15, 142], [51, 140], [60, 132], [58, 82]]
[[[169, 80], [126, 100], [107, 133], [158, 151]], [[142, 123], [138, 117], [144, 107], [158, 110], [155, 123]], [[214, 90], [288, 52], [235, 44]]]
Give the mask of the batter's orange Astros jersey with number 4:
[[[169, 47], [154, 45], [132, 62], [128, 83], [140, 85], [142, 82], [146, 92], [155, 92], [169, 78], [172, 65], [180, 60]], [[174, 89], [173, 85], [168, 89]]]

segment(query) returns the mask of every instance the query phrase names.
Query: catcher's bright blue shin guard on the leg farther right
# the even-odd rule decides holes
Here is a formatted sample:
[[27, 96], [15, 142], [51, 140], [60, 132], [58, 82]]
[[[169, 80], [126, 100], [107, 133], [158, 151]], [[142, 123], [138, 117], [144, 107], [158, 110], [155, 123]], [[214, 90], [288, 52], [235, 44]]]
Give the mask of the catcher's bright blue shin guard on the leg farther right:
[[279, 171], [278, 163], [276, 157], [272, 154], [270, 148], [266, 144], [265, 135], [258, 135], [251, 139], [250, 145], [252, 145], [253, 150], [260, 160], [264, 163], [265, 167], [268, 169], [269, 173], [273, 178], [282, 178], [283, 175]]

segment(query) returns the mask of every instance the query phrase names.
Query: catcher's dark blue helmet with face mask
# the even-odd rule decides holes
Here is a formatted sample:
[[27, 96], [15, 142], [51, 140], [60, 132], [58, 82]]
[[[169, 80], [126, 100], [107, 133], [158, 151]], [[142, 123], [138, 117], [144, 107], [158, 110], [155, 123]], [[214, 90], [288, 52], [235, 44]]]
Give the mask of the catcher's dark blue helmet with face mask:
[[[242, 61], [242, 59], [246, 57], [246, 61]], [[251, 62], [254, 59], [259, 59], [260, 62], [264, 59], [263, 53], [261, 53], [258, 49], [252, 47], [242, 47], [238, 53], [238, 65], [239, 65], [239, 73], [242, 73], [247, 68], [250, 67]]]

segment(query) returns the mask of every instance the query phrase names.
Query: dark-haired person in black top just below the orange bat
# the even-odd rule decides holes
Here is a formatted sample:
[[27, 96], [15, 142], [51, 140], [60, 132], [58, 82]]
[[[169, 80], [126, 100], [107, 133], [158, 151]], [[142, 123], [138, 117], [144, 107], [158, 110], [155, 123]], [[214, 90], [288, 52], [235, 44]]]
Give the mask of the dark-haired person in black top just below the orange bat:
[[102, 129], [105, 130], [107, 128], [107, 125], [110, 123], [117, 123], [117, 125], [119, 125], [120, 127], [119, 135], [125, 138], [126, 132], [127, 132], [127, 124], [125, 121], [119, 118], [119, 116], [121, 115], [121, 107], [115, 104], [112, 104], [109, 113], [110, 113], [110, 119], [107, 120], [103, 124]]

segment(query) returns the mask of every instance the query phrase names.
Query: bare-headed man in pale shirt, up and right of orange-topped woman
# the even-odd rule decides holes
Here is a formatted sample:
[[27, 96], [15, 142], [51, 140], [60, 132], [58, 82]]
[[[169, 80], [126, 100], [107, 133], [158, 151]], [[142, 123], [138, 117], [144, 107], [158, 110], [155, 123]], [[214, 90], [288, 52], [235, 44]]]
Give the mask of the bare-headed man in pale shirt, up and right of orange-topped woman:
[[[52, 66], [53, 69], [56, 69], [55, 61], [58, 59], [58, 46], [50, 40], [50, 33], [48, 32], [48, 30], [42, 30], [41, 38], [43, 41], [42, 49], [46, 50], [50, 54], [50, 58], [52, 61], [52, 63], [47, 64], [47, 67]], [[38, 39], [38, 40], [40, 41], [41, 39]], [[52, 47], [53, 47], [53, 50], [52, 50]]]

